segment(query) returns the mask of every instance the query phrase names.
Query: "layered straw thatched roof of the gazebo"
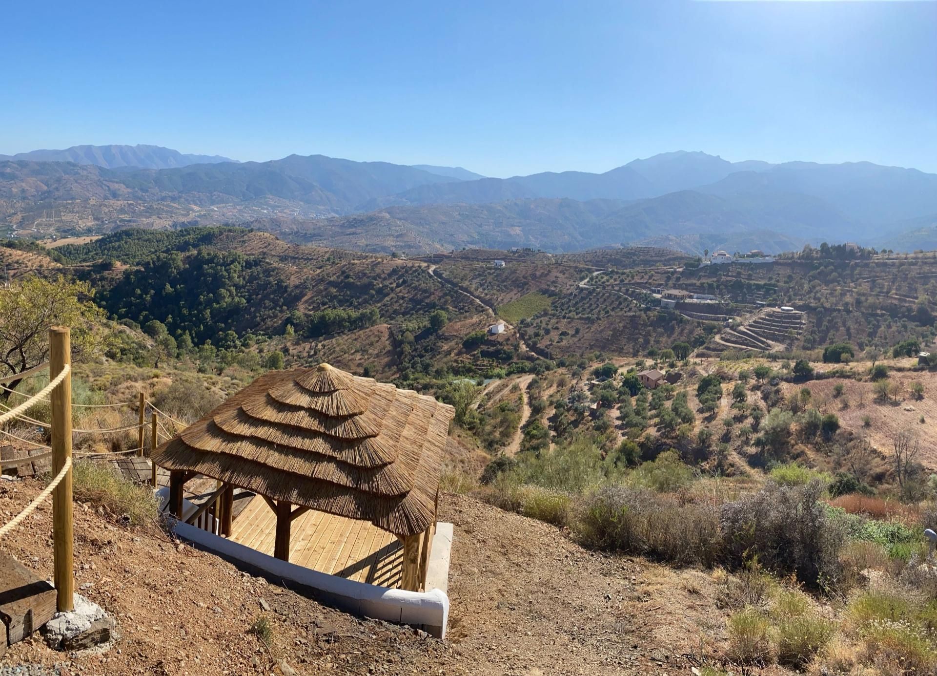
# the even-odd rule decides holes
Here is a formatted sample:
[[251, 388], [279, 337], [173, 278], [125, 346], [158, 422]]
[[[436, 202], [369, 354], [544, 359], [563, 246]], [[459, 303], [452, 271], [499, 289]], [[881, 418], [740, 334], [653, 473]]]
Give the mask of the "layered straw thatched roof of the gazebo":
[[156, 464], [398, 535], [434, 518], [452, 406], [321, 364], [271, 371], [170, 441]]

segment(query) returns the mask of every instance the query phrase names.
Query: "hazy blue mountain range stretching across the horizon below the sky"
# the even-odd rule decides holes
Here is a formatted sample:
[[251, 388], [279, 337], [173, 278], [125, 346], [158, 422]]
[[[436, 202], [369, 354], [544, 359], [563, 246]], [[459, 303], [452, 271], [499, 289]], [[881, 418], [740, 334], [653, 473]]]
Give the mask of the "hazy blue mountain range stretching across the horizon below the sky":
[[[116, 146], [97, 147], [92, 155], [103, 158], [100, 147]], [[371, 250], [569, 251], [662, 238], [676, 238], [674, 246], [692, 252], [714, 248], [706, 245], [781, 250], [823, 240], [898, 242], [889, 248], [900, 250], [901, 233], [926, 229], [921, 223], [937, 214], [937, 174], [870, 162], [730, 162], [685, 151], [635, 159], [605, 173], [504, 179], [461, 167], [321, 155], [171, 168], [12, 159], [0, 161], [0, 198], [226, 205], [235, 220], [242, 206], [274, 200], [280, 211], [257, 227]], [[284, 218], [299, 207], [324, 218]], [[256, 210], [245, 218], [256, 218]]]

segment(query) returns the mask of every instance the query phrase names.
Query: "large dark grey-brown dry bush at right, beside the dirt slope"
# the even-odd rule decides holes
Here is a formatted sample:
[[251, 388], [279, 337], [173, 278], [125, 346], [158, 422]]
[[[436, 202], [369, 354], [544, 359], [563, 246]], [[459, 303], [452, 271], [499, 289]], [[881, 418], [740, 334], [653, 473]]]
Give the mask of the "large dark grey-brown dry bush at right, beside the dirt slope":
[[823, 484], [782, 487], [769, 483], [759, 492], [721, 506], [722, 556], [738, 567], [757, 555], [767, 569], [795, 574], [813, 587], [840, 579], [844, 533], [826, 517]]

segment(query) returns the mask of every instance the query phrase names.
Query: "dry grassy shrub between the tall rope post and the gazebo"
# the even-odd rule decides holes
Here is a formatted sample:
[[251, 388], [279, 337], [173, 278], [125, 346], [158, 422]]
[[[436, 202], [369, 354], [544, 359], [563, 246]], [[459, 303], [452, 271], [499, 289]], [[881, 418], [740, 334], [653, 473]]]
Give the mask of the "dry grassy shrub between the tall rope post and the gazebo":
[[131, 526], [156, 525], [159, 510], [149, 486], [127, 481], [112, 464], [80, 460], [72, 470], [74, 499], [103, 507]]

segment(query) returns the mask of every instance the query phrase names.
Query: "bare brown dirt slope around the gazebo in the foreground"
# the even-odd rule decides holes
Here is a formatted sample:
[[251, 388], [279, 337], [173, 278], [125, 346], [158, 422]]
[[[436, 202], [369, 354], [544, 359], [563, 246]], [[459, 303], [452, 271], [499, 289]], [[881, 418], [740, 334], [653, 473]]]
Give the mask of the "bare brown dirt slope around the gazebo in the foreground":
[[[0, 520], [40, 488], [0, 483]], [[325, 608], [76, 504], [76, 591], [112, 613], [121, 638], [101, 654], [27, 639], [0, 659], [0, 673], [686, 674], [693, 663], [682, 655], [724, 640], [708, 572], [590, 552], [555, 527], [463, 496], [444, 495], [440, 509], [455, 526], [445, 641]], [[51, 511], [0, 543], [42, 576], [52, 572]], [[248, 631], [261, 615], [269, 644]]]

